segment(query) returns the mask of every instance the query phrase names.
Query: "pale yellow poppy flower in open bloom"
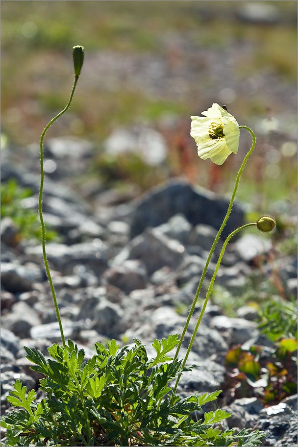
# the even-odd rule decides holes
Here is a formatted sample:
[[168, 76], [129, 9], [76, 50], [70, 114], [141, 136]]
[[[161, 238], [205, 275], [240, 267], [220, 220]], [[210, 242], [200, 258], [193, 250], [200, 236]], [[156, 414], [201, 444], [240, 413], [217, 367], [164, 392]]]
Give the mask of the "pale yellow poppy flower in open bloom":
[[203, 160], [211, 158], [213, 163], [222, 165], [232, 152], [238, 152], [239, 124], [216, 102], [202, 115], [206, 118], [191, 117], [190, 134], [197, 143], [198, 155]]

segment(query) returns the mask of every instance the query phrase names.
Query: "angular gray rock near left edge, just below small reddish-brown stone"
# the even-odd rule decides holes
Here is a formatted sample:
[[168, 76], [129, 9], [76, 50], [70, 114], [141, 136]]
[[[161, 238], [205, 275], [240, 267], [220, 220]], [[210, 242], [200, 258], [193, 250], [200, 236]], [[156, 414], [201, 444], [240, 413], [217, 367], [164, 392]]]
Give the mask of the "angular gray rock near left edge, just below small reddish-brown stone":
[[30, 329], [40, 323], [41, 320], [37, 312], [24, 301], [16, 302], [12, 306], [11, 312], [2, 322], [6, 329], [11, 330], [21, 338], [28, 337]]

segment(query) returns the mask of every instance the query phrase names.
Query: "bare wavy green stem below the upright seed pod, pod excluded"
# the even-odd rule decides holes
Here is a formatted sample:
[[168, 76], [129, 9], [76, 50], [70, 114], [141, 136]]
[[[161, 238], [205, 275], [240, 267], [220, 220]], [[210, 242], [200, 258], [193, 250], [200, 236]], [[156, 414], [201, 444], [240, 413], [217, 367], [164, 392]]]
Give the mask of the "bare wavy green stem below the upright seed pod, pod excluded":
[[43, 218], [43, 210], [42, 210], [43, 188], [44, 188], [44, 178], [45, 178], [43, 142], [44, 142], [44, 136], [45, 136], [47, 130], [49, 129], [50, 125], [53, 124], [53, 122], [56, 121], [57, 118], [59, 118], [64, 112], [66, 112], [67, 109], [69, 108], [69, 106], [71, 105], [71, 102], [72, 102], [72, 99], [73, 99], [73, 96], [75, 93], [75, 86], [76, 86], [77, 80], [78, 80], [78, 76], [75, 76], [75, 82], [74, 82], [74, 86], [72, 89], [72, 93], [71, 93], [70, 99], [69, 99], [66, 107], [63, 110], [61, 110], [61, 112], [59, 112], [58, 115], [56, 115], [50, 121], [49, 124], [46, 125], [43, 133], [41, 134], [41, 138], [40, 138], [40, 188], [39, 188], [39, 199], [38, 199], [38, 214], [39, 214], [39, 219], [40, 219], [40, 223], [41, 223], [41, 237], [42, 237], [44, 263], [45, 263], [45, 268], [46, 268], [46, 272], [47, 272], [49, 283], [50, 283], [50, 290], [52, 292], [52, 297], [53, 297], [53, 301], [54, 301], [57, 320], [58, 320], [59, 327], [60, 327], [61, 339], [62, 339], [63, 346], [65, 346], [65, 338], [64, 338], [64, 334], [63, 334], [63, 328], [62, 328], [59, 308], [58, 308], [58, 304], [57, 304], [57, 298], [56, 298], [56, 294], [55, 294], [53, 281], [52, 281], [52, 278], [50, 275], [50, 269], [49, 269], [47, 253], [46, 253], [46, 228], [45, 228], [45, 223], [44, 223], [44, 218]]

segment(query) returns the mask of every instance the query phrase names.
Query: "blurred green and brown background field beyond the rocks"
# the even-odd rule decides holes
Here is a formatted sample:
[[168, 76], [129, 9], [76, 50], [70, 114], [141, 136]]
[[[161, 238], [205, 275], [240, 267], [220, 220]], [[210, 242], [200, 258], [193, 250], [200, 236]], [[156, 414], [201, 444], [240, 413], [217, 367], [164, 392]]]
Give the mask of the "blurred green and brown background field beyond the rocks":
[[189, 136], [190, 116], [218, 102], [257, 137], [237, 199], [257, 216], [295, 214], [296, 1], [1, 1], [2, 154], [25, 162], [33, 150], [36, 170], [74, 45], [85, 48], [75, 97], [47, 138], [92, 143], [73, 182], [85, 197], [98, 185], [136, 197], [175, 176], [229, 197], [250, 135], [222, 167]]

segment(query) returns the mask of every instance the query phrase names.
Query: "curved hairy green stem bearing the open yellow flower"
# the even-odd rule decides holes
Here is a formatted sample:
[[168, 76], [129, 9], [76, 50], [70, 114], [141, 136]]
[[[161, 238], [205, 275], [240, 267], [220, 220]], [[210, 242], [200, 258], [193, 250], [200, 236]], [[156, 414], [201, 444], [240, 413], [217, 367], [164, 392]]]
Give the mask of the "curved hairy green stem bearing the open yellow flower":
[[208, 265], [209, 265], [210, 259], [211, 259], [211, 257], [212, 257], [214, 248], [215, 248], [215, 246], [216, 246], [216, 244], [217, 244], [217, 242], [218, 242], [218, 240], [219, 240], [219, 238], [220, 238], [220, 235], [222, 234], [222, 231], [223, 231], [223, 229], [224, 229], [224, 225], [226, 224], [226, 221], [228, 220], [229, 215], [230, 215], [230, 213], [231, 213], [232, 206], [233, 206], [233, 202], [234, 202], [234, 199], [235, 199], [235, 196], [236, 196], [236, 192], [237, 192], [237, 188], [238, 188], [238, 184], [239, 184], [239, 180], [240, 180], [240, 176], [241, 176], [242, 171], [243, 171], [243, 169], [244, 169], [244, 167], [245, 167], [245, 165], [246, 165], [246, 162], [248, 161], [248, 157], [249, 157], [249, 155], [251, 154], [251, 152], [253, 151], [253, 149], [254, 149], [254, 147], [255, 147], [255, 136], [254, 136], [253, 131], [252, 131], [249, 127], [244, 126], [244, 125], [239, 126], [239, 128], [240, 128], [240, 129], [241, 129], [241, 128], [242, 128], [242, 129], [247, 129], [248, 132], [250, 132], [250, 134], [251, 134], [251, 136], [252, 136], [252, 145], [251, 145], [250, 150], [249, 150], [248, 153], [246, 154], [246, 156], [245, 156], [245, 158], [244, 158], [244, 160], [243, 160], [243, 162], [242, 162], [242, 165], [241, 165], [241, 167], [240, 167], [240, 169], [239, 169], [239, 172], [238, 172], [238, 174], [237, 174], [237, 178], [236, 178], [236, 182], [235, 182], [235, 186], [234, 186], [234, 190], [233, 190], [233, 194], [232, 194], [232, 197], [231, 197], [231, 200], [230, 200], [230, 204], [229, 204], [228, 210], [227, 210], [227, 212], [226, 212], [224, 221], [223, 221], [223, 223], [222, 223], [220, 229], [218, 230], [218, 233], [217, 233], [217, 235], [216, 235], [216, 237], [215, 237], [215, 239], [214, 239], [214, 242], [213, 242], [213, 244], [212, 244], [212, 247], [211, 247], [211, 249], [210, 249], [210, 253], [209, 253], [209, 256], [208, 256], [208, 258], [207, 258], [206, 265], [205, 265], [205, 267], [204, 267], [204, 270], [203, 270], [201, 279], [200, 279], [200, 281], [199, 281], [198, 290], [197, 290], [196, 296], [195, 296], [195, 298], [194, 298], [194, 300], [193, 300], [193, 303], [192, 303], [191, 309], [190, 309], [190, 311], [189, 311], [189, 314], [188, 314], [186, 323], [185, 323], [185, 325], [184, 325], [184, 328], [183, 328], [183, 331], [182, 331], [182, 334], [181, 334], [181, 337], [180, 337], [180, 342], [179, 342], [179, 344], [178, 344], [178, 347], [177, 347], [177, 350], [176, 350], [174, 359], [176, 359], [176, 358], [178, 357], [178, 353], [179, 353], [179, 350], [180, 350], [180, 348], [181, 348], [181, 345], [182, 345], [182, 342], [183, 342], [183, 339], [184, 339], [184, 336], [185, 336], [185, 332], [186, 332], [186, 330], [187, 330], [187, 328], [188, 328], [188, 325], [189, 325], [191, 316], [192, 316], [193, 313], [194, 313], [194, 310], [195, 310], [195, 307], [196, 307], [196, 304], [197, 304], [197, 301], [198, 301], [198, 298], [199, 298], [199, 293], [200, 293], [200, 290], [201, 290], [201, 288], [202, 288], [202, 284], [203, 284], [203, 281], [204, 281], [204, 278], [205, 278], [205, 274], [206, 274], [206, 272], [207, 272]]

